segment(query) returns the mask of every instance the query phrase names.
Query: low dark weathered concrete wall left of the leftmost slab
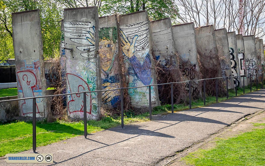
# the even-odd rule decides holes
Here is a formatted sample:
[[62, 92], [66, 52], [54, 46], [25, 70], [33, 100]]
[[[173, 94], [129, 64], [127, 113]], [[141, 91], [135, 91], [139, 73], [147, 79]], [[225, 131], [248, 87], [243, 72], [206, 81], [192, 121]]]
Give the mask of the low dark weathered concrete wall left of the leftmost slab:
[[[0, 97], [0, 101], [17, 99], [17, 96]], [[19, 116], [18, 101], [0, 102], [0, 123], [17, 119]]]

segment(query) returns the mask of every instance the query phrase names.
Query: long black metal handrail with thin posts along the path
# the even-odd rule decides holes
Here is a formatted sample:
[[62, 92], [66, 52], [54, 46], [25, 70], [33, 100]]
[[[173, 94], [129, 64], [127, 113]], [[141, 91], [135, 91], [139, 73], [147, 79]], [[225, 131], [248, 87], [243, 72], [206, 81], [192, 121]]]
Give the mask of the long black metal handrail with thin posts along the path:
[[[252, 75], [256, 75], [256, 89], [257, 88], [257, 75], [261, 74], [261, 82], [262, 82], [262, 89], [263, 89], [263, 72], [262, 73], [255, 73], [255, 74], [247, 74], [250, 75], [250, 91], [252, 90]], [[200, 80], [189, 80], [189, 81], [181, 81], [181, 82], [170, 82], [170, 83], [164, 83], [164, 84], [153, 84], [153, 85], [145, 85], [145, 86], [138, 86], [138, 87], [125, 87], [125, 88], [115, 88], [115, 89], [108, 89], [108, 90], [100, 90], [100, 91], [83, 91], [83, 92], [75, 92], [75, 93], [67, 93], [67, 94], [55, 94], [55, 95], [47, 95], [47, 96], [36, 96], [36, 97], [26, 97], [26, 98], [19, 98], [19, 99], [11, 99], [11, 100], [3, 100], [1, 102], [5, 101], [20, 101], [20, 100], [29, 100], [33, 99], [33, 111], [32, 111], [32, 149], [33, 152], [36, 153], [36, 99], [37, 98], [45, 98], [45, 97], [55, 97], [55, 96], [65, 96], [65, 95], [71, 95], [71, 94], [81, 94], [83, 93], [83, 101], [84, 101], [84, 106], [86, 106], [86, 93], [95, 93], [95, 92], [106, 92], [106, 91], [113, 91], [113, 90], [120, 90], [120, 101], [121, 101], [121, 128], [124, 126], [124, 120], [123, 120], [123, 89], [131, 89], [131, 88], [143, 88], [143, 87], [148, 87], [149, 90], [149, 119], [152, 119], [152, 106], [151, 106], [151, 86], [157, 86], [157, 85], [168, 85], [171, 84], [171, 112], [174, 113], [174, 103], [173, 103], [173, 84], [176, 83], [185, 83], [189, 82], [189, 108], [191, 109], [191, 82], [194, 81], [202, 81], [203, 80], [203, 90], [204, 90], [204, 105], [205, 105], [205, 80], [210, 80], [210, 79], [219, 79], [219, 78], [226, 78], [226, 97], [228, 99], [228, 78], [230, 77], [241, 77], [243, 76], [243, 94], [245, 94], [245, 77], [247, 75], [237, 75], [237, 76], [227, 76], [227, 77], [216, 77], [216, 78], [205, 78], [205, 79], [200, 79]], [[235, 95], [237, 96], [237, 81], [235, 81]], [[216, 81], [216, 102], [218, 102], [218, 82]], [[85, 139], [87, 137], [87, 118], [86, 118], [86, 107], [83, 107], [84, 109], [84, 136]]]

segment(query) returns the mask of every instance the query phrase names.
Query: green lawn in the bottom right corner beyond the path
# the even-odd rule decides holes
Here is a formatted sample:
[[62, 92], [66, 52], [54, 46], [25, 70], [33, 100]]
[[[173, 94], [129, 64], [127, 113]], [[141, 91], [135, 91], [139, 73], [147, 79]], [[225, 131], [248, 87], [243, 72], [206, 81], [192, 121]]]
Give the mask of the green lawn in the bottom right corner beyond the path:
[[210, 150], [200, 149], [182, 158], [186, 164], [207, 165], [265, 165], [265, 129], [254, 129], [237, 137], [218, 140]]

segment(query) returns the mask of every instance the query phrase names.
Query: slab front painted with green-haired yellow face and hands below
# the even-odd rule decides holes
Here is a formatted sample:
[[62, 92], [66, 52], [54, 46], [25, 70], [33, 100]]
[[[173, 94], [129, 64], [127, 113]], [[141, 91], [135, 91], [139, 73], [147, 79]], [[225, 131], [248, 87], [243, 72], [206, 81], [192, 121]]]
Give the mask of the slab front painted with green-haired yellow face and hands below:
[[[119, 68], [115, 58], [118, 51], [117, 27], [102, 27], [98, 34], [102, 90], [120, 88]], [[91, 34], [91, 38], [94, 39], [95, 37]], [[110, 103], [111, 107], [117, 108], [120, 102], [120, 90], [103, 92], [102, 102], [104, 104]]]

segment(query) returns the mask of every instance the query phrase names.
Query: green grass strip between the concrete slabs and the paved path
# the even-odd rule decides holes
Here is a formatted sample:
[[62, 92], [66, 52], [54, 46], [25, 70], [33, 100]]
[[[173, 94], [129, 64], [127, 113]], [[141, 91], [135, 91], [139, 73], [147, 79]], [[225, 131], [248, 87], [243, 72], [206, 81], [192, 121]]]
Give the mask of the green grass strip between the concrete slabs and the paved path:
[[[253, 88], [254, 90], [254, 88]], [[250, 92], [249, 88], [245, 88], [245, 93]], [[238, 95], [243, 94], [242, 88], [239, 88]], [[229, 98], [234, 97], [235, 92], [229, 91]], [[226, 97], [219, 97], [218, 101], [224, 101]], [[206, 97], [206, 105], [216, 102], [215, 97]], [[204, 106], [203, 100], [192, 101], [192, 108]], [[175, 104], [174, 111], [186, 110], [189, 106], [184, 104]], [[171, 105], [163, 105], [154, 107], [152, 115], [171, 112]], [[136, 121], [148, 121], [149, 112], [135, 115], [133, 110], [126, 111], [124, 116], [124, 124], [133, 123]], [[102, 120], [90, 120], [87, 122], [87, 133], [97, 132], [121, 124], [120, 117], [106, 117]], [[64, 122], [56, 121], [53, 123], [37, 122], [37, 138], [36, 145], [44, 146], [53, 142], [58, 142], [64, 139], [80, 136], [84, 134], [83, 121], [80, 122]], [[32, 148], [32, 123], [31, 122], [12, 122], [0, 124], [0, 156], [7, 153], [17, 153]]]

